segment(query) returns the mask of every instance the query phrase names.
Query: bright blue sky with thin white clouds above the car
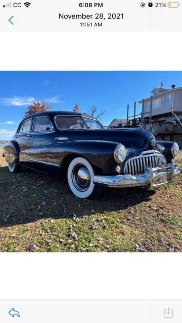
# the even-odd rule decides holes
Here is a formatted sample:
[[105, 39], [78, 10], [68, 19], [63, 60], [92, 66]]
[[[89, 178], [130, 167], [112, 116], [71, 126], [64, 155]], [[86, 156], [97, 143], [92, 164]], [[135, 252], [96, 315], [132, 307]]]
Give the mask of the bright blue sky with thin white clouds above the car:
[[[80, 112], [92, 105], [106, 111], [101, 122], [133, 115], [133, 102], [149, 97], [154, 87], [182, 86], [182, 72], [0, 72], [0, 139], [10, 139], [23, 119], [27, 105], [45, 100], [52, 110]], [[136, 105], [137, 113], [141, 104]]]

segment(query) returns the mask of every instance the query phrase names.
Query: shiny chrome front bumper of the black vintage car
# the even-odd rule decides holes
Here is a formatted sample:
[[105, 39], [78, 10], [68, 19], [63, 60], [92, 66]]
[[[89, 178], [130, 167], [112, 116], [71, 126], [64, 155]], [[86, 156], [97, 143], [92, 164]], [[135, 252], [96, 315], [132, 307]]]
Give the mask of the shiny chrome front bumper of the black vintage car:
[[147, 167], [143, 175], [96, 175], [94, 177], [94, 184], [100, 184], [109, 187], [134, 187], [147, 186], [147, 189], [171, 183], [173, 178], [180, 173], [178, 166], [167, 164], [167, 166], [160, 165], [159, 167]]

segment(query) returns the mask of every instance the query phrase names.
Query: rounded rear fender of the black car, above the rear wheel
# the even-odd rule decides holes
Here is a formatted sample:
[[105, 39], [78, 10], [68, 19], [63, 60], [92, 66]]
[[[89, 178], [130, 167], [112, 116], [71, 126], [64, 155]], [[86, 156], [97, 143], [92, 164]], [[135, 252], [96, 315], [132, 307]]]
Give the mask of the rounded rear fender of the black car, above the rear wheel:
[[4, 157], [7, 161], [11, 161], [11, 163], [14, 163], [14, 164], [19, 163], [19, 153], [20, 153], [20, 148], [18, 143], [15, 140], [9, 141], [4, 146]]

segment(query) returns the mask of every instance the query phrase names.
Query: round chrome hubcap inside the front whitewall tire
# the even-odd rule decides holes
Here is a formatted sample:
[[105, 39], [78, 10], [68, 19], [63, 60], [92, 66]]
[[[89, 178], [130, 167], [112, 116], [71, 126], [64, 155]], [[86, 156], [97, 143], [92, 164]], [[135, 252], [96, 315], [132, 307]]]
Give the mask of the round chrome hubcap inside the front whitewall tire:
[[72, 171], [72, 181], [79, 191], [86, 191], [90, 184], [90, 173], [85, 166], [76, 165]]

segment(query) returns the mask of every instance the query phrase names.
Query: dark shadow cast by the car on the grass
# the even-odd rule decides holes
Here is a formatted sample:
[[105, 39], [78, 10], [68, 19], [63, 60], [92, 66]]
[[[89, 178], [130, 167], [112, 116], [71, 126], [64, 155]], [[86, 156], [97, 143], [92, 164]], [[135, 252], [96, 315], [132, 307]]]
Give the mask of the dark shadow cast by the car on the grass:
[[0, 227], [33, 223], [41, 219], [72, 219], [109, 212], [122, 212], [150, 201], [155, 191], [144, 188], [104, 188], [98, 199], [79, 199], [66, 179], [22, 169], [11, 174], [0, 167]]

